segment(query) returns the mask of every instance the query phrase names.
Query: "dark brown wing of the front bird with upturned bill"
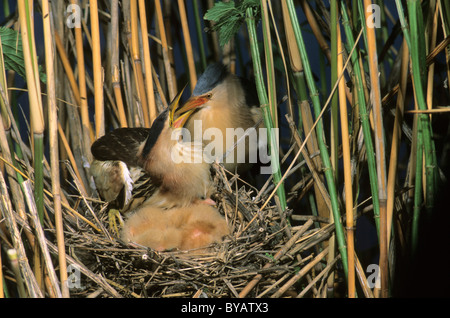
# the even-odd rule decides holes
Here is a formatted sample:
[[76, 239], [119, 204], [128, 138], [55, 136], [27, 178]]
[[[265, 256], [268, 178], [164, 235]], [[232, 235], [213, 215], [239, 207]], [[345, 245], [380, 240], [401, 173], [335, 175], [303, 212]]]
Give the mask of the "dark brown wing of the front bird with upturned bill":
[[149, 135], [149, 128], [118, 128], [97, 139], [91, 146], [95, 159], [122, 161], [138, 166], [137, 153]]

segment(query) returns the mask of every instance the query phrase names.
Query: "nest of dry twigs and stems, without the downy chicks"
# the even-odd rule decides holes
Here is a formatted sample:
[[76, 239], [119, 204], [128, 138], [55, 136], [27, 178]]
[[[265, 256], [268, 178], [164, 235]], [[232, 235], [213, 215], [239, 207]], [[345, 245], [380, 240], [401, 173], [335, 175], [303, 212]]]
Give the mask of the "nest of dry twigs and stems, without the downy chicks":
[[217, 298], [320, 292], [336, 263], [321, 263], [328, 251], [321, 243], [334, 227], [315, 228], [308, 217], [290, 224], [289, 212], [268, 204], [267, 194], [248, 185], [238, 188], [235, 177], [228, 180], [223, 169], [217, 172], [214, 199], [231, 229], [221, 244], [206, 251], [164, 252], [125, 244], [108, 232], [106, 209], [100, 206], [103, 233], [80, 222], [77, 231], [66, 234], [69, 263], [83, 274], [71, 295]]

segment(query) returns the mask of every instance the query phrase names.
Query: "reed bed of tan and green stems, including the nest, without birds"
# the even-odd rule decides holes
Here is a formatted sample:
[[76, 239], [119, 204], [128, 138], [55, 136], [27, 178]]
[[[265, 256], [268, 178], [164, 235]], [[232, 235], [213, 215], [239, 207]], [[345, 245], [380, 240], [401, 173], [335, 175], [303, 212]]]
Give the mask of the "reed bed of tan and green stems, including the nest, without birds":
[[[371, 298], [448, 285], [435, 266], [449, 243], [446, 1], [3, 7], [1, 297]], [[222, 244], [127, 245], [108, 226], [90, 145], [150, 127], [216, 61], [255, 81], [280, 169], [254, 183], [214, 165], [232, 230]]]

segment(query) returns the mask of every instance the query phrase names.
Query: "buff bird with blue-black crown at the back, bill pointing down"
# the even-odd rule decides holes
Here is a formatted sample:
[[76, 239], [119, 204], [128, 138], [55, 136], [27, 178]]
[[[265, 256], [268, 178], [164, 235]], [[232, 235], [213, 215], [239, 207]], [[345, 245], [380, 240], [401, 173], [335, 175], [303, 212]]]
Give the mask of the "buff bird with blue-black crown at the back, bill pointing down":
[[231, 74], [222, 63], [211, 64], [176, 113], [193, 110], [185, 127], [191, 138], [205, 143], [211, 158], [231, 172], [243, 172], [258, 161], [258, 151], [266, 143], [259, 138], [262, 112], [252, 83]]

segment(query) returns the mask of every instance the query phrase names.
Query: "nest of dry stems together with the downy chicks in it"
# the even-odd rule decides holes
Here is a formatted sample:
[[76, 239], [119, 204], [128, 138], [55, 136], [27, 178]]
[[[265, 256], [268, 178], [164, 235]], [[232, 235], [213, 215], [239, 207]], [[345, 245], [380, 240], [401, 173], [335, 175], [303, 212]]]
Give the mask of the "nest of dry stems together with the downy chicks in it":
[[[286, 291], [298, 294], [305, 288], [294, 284], [302, 278], [298, 273], [322, 251], [318, 244], [333, 227], [313, 229], [311, 220], [293, 226], [288, 212], [267, 204], [265, 195], [255, 200], [254, 190], [231, 187], [220, 173], [216, 177], [216, 207], [194, 206], [180, 214], [143, 207], [129, 218], [121, 238], [86, 226], [69, 233], [66, 242], [74, 259], [91, 271], [78, 296], [98, 292], [99, 284], [105, 290], [102, 297], [115, 297], [110, 290], [124, 297], [286, 297]], [[106, 214], [100, 219], [104, 228]], [[170, 219], [165, 224], [181, 224], [183, 230], [170, 239], [165, 228], [145, 233], [148, 224], [157, 228], [164, 218]], [[213, 234], [200, 225], [203, 221], [214, 228]], [[255, 277], [257, 284], [249, 286]], [[323, 284], [327, 275], [321, 277], [318, 283]]]

